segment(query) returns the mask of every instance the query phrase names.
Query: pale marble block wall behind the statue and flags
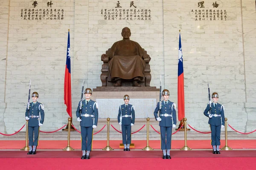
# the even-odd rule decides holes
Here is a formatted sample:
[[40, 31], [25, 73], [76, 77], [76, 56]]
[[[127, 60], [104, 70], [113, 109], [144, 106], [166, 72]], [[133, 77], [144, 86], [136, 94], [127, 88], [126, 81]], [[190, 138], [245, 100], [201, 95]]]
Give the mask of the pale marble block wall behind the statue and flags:
[[[208, 119], [203, 115], [209, 82], [211, 92], [218, 92], [219, 102], [225, 106], [230, 125], [241, 131], [255, 129], [254, 0], [224, 0], [216, 1], [217, 4], [209, 0], [201, 3], [197, 0], [140, 0], [134, 1], [134, 6], [131, 1], [119, 0], [119, 6], [125, 9], [121, 11], [121, 18], [120, 8], [115, 8], [118, 2], [113, 0], [54, 0], [52, 7], [47, 6], [48, 0], [38, 0], [35, 8], [33, 0], [0, 1], [0, 132], [13, 133], [25, 122], [30, 79], [32, 91], [39, 93], [39, 101], [45, 105], [42, 129], [56, 129], [66, 124], [63, 91], [68, 29], [75, 116], [84, 77], [85, 86], [101, 86], [100, 56], [113, 42], [122, 40], [121, 31], [125, 26], [131, 28], [131, 40], [139, 42], [152, 58], [151, 86], [159, 87], [162, 74], [163, 88], [170, 90], [170, 99], [176, 104], [181, 30], [185, 115], [190, 125], [209, 130]], [[32, 9], [38, 10], [38, 19], [34, 16], [32, 20]], [[142, 9], [144, 16], [138, 17], [138, 10], [142, 12]], [[145, 9], [151, 12], [150, 20], [149, 16], [145, 20]], [[110, 12], [110, 17], [108, 14], [105, 17], [105, 10]], [[112, 10], [115, 12], [113, 20]], [[136, 17], [131, 14], [134, 10]], [[128, 18], [124, 12], [125, 15], [129, 12]]]

